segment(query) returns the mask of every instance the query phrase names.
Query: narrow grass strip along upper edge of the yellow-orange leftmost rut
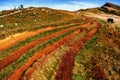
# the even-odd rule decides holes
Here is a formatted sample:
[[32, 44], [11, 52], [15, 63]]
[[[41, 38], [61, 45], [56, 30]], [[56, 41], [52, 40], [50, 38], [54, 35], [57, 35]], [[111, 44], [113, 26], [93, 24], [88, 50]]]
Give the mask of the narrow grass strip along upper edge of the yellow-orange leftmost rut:
[[[53, 26], [53, 27], [57, 27], [57, 26], [62, 26], [62, 25], [69, 25], [71, 23], [75, 23], [75, 22], [81, 22], [82, 19], [71, 19], [71, 20], [66, 20], [66, 21], [61, 21], [61, 22], [57, 22], [57, 23], [51, 23], [51, 24], [44, 24], [44, 25], [36, 25], [36, 26], [33, 26], [33, 27], [15, 27], [15, 29], [8, 29], [7, 27], [3, 27], [3, 28], [0, 28], [0, 39], [4, 39], [5, 37], [9, 36], [9, 35], [12, 35], [12, 34], [15, 34], [15, 33], [21, 33], [21, 32], [24, 32], [24, 31], [35, 31], [35, 30], [38, 30], [38, 29], [42, 29], [42, 28], [47, 28], [48, 26]], [[9, 26], [10, 28], [11, 26]], [[4, 29], [5, 28], [5, 29]], [[6, 29], [7, 28], [7, 29]], [[2, 32], [3, 31], [3, 32]]]

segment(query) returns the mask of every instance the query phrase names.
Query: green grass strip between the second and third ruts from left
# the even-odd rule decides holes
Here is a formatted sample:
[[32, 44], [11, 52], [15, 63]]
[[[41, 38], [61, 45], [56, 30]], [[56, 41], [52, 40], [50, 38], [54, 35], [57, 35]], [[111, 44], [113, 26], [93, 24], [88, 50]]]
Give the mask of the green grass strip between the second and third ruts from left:
[[22, 66], [25, 62], [28, 61], [29, 57], [33, 56], [34, 53], [36, 51], [39, 50], [43, 50], [46, 46], [53, 44], [54, 42], [58, 41], [61, 38], [64, 38], [65, 36], [72, 34], [74, 31], [76, 31], [77, 29], [74, 29], [72, 31], [69, 31], [65, 34], [62, 34], [58, 37], [55, 37], [51, 40], [48, 40], [46, 42], [43, 42], [42, 44], [36, 46], [35, 48], [31, 49], [29, 52], [27, 52], [26, 54], [24, 54], [23, 56], [21, 56], [20, 59], [18, 59], [17, 61], [15, 61], [14, 63], [10, 64], [9, 66], [5, 67], [1, 72], [0, 72], [0, 79], [4, 79], [9, 77], [13, 71], [17, 68], [19, 68], [20, 66]]

